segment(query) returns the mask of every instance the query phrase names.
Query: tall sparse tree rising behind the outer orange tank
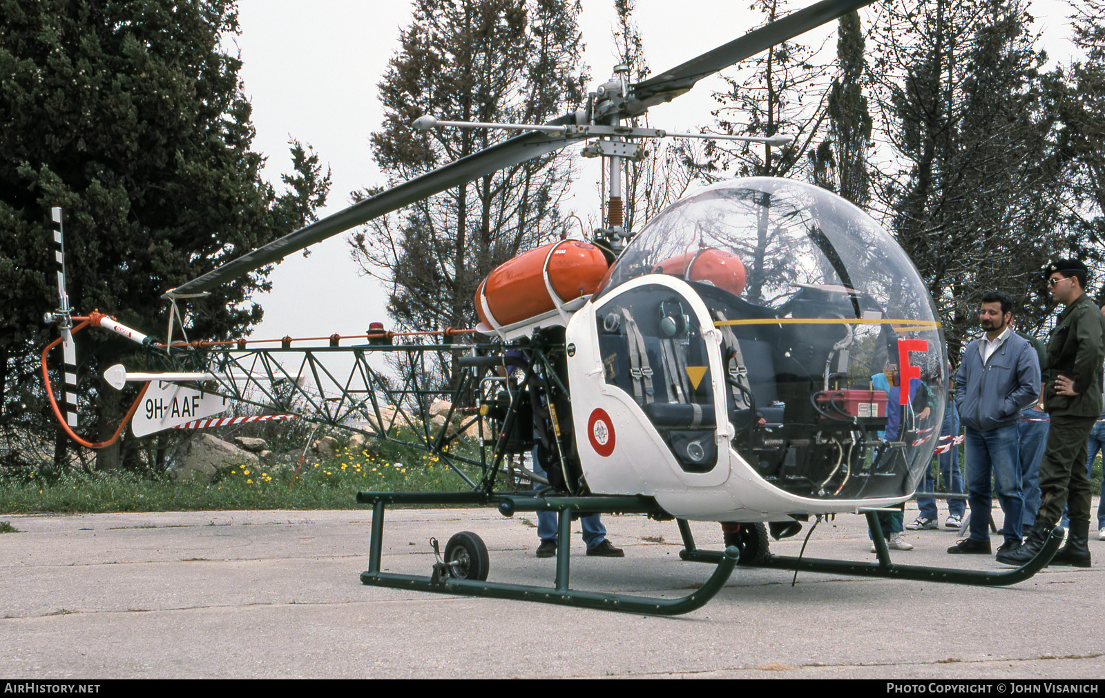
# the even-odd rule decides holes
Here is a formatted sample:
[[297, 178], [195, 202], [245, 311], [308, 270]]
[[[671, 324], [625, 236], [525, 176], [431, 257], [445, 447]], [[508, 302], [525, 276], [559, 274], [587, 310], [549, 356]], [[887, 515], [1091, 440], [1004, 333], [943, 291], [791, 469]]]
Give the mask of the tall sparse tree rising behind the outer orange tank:
[[[386, 117], [372, 147], [388, 184], [512, 135], [417, 131], [411, 121], [422, 115], [540, 124], [578, 106], [578, 13], [577, 0], [418, 0], [379, 85]], [[506, 168], [373, 220], [350, 237], [352, 256], [391, 287], [388, 311], [399, 328], [467, 327], [480, 281], [560, 231], [570, 180], [564, 152]]]

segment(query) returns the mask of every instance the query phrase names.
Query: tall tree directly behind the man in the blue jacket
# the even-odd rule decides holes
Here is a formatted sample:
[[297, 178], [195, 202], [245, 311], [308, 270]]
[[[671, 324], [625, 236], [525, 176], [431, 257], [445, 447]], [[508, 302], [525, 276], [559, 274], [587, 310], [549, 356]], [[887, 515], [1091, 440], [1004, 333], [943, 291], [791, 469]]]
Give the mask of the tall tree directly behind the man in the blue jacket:
[[[876, 72], [899, 162], [881, 193], [898, 242], [936, 300], [958, 356], [978, 299], [1021, 300], [1018, 327], [1046, 315], [1040, 269], [1061, 247], [1063, 178], [1042, 52], [1023, 4], [997, 0], [892, 6]], [[894, 73], [894, 66], [901, 66]]]

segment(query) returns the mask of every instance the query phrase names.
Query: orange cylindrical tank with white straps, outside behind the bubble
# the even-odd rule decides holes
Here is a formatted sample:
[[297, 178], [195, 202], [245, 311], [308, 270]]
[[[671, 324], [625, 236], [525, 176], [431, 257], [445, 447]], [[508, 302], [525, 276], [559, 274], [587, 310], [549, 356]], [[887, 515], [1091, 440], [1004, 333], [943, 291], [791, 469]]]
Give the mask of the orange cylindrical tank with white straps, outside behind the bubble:
[[520, 322], [594, 292], [607, 258], [592, 244], [561, 240], [505, 262], [476, 289], [476, 313], [488, 327]]

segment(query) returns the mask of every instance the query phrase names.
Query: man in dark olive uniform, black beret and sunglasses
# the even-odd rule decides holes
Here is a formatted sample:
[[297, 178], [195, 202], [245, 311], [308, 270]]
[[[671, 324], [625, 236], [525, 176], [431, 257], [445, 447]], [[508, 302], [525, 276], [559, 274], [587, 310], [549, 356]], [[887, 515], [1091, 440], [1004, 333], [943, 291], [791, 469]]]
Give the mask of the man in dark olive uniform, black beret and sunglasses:
[[1102, 413], [1105, 317], [1086, 295], [1086, 265], [1057, 260], [1046, 266], [1052, 300], [1065, 306], [1048, 342], [1044, 410], [1051, 416], [1048, 447], [1040, 464], [1040, 511], [1024, 544], [998, 554], [998, 562], [1021, 565], [1043, 548], [1069, 506], [1066, 544], [1051, 564], [1090, 567], [1090, 478], [1086, 441]]

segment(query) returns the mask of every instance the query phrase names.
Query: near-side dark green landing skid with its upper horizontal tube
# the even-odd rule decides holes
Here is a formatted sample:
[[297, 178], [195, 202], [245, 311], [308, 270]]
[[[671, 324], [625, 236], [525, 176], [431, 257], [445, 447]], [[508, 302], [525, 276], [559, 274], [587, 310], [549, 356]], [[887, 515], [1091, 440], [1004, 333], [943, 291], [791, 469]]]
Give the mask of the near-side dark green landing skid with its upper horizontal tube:
[[718, 553], [717, 568], [709, 579], [693, 593], [680, 599], [655, 599], [630, 596], [602, 592], [575, 591], [568, 584], [569, 547], [561, 544], [557, 550], [555, 586], [530, 586], [464, 579], [435, 581], [432, 577], [396, 574], [380, 571], [383, 548], [383, 509], [389, 504], [399, 505], [476, 505], [495, 506], [504, 516], [515, 511], [556, 511], [559, 515], [559, 536], [567, 541], [571, 530], [572, 515], [579, 512], [599, 514], [663, 514], [651, 497], [589, 496], [589, 497], [534, 497], [527, 495], [487, 494], [484, 491], [454, 493], [399, 493], [361, 491], [357, 501], [372, 505], [372, 532], [368, 553], [368, 570], [361, 572], [362, 584], [389, 586], [391, 589], [413, 589], [443, 594], [464, 596], [491, 596], [515, 601], [538, 601], [585, 609], [602, 609], [624, 613], [648, 613], [653, 615], [677, 615], [702, 607], [714, 597], [728, 581], [737, 563], [738, 551], [729, 548]]

